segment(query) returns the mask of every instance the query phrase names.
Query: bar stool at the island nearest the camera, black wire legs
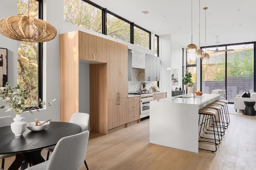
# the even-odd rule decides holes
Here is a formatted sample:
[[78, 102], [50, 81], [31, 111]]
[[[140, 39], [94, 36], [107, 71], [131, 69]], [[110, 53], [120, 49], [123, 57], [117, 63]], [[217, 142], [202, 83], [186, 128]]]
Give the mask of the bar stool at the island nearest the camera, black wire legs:
[[[219, 132], [218, 132], [218, 127], [214, 127], [215, 125], [217, 125], [217, 122], [216, 122], [216, 116], [218, 115], [218, 111], [215, 110], [215, 109], [207, 109], [207, 108], [202, 108], [202, 109], [199, 109], [198, 110], [198, 114], [199, 114], [199, 120], [198, 120], [198, 125], [200, 126], [200, 132], [199, 132], [199, 137], [202, 138], [202, 139], [208, 139], [208, 140], [202, 140], [202, 139], [199, 139], [198, 142], [206, 142], [206, 143], [212, 143], [215, 145], [215, 150], [209, 150], [209, 149], [203, 149], [203, 148], [200, 148], [198, 147], [198, 149], [201, 149], [201, 150], [207, 150], [207, 151], [211, 151], [211, 152], [215, 152], [217, 150], [217, 145], [220, 144], [220, 135], [219, 135]], [[202, 121], [200, 122], [200, 118], [201, 118], [201, 115], [203, 116], [202, 117]], [[210, 138], [210, 137], [203, 137], [201, 134], [202, 133], [202, 128], [204, 129], [206, 127], [206, 121], [208, 119], [212, 119], [213, 120], [213, 133], [207, 133], [208, 135], [213, 135], [213, 138]], [[214, 124], [215, 122], [215, 124]], [[215, 131], [217, 130], [217, 131]], [[204, 130], [203, 130], [204, 132]], [[218, 139], [216, 139], [216, 137], [218, 137]]]

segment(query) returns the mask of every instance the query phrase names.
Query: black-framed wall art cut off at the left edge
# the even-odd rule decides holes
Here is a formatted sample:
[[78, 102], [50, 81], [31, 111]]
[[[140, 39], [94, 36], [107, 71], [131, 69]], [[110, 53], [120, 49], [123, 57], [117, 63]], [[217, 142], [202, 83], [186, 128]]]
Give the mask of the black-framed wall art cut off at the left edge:
[[0, 48], [0, 86], [7, 82], [7, 49]]

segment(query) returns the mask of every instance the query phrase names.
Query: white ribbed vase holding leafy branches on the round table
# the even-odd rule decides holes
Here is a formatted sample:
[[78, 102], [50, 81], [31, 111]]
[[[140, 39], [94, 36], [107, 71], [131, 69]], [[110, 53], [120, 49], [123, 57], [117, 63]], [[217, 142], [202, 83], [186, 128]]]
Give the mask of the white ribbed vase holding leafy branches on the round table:
[[25, 117], [22, 117], [22, 114], [14, 117], [14, 122], [11, 123], [11, 129], [15, 136], [22, 136], [26, 130], [27, 122], [24, 119]]

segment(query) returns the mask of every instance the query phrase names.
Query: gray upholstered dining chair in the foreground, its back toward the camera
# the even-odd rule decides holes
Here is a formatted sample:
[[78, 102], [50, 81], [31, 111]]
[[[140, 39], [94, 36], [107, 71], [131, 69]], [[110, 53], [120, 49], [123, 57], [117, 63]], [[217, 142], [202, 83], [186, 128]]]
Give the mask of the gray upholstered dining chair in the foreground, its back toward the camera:
[[58, 141], [49, 160], [26, 170], [79, 170], [86, 155], [89, 131], [64, 137]]

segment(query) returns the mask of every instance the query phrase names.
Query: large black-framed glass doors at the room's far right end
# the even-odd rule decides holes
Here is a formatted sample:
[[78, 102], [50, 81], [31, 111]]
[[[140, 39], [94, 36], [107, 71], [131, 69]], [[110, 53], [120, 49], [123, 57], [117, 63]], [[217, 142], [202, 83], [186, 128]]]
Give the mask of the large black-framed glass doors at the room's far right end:
[[[226, 90], [226, 98], [232, 103], [237, 94], [254, 90], [255, 43], [223, 45], [222, 52], [209, 52], [210, 59], [202, 61], [202, 91]], [[208, 47], [206, 50], [215, 50]]]

